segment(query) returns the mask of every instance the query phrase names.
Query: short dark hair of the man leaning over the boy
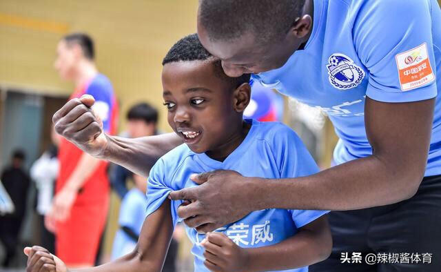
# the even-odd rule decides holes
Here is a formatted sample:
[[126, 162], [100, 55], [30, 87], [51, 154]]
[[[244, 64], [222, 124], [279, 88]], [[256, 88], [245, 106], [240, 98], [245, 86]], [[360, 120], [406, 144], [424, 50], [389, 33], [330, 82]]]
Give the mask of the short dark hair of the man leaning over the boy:
[[198, 17], [213, 40], [252, 33], [258, 43], [280, 40], [302, 15], [305, 0], [201, 0]]

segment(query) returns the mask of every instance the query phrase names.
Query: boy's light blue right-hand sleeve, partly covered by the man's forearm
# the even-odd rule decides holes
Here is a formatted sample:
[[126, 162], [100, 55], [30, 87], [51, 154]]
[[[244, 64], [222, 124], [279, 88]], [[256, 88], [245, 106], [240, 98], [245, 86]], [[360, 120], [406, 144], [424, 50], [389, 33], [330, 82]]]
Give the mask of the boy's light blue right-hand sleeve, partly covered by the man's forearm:
[[[318, 173], [319, 169], [305, 144], [287, 126], [274, 130], [273, 151], [280, 171], [280, 178], [305, 177]], [[299, 229], [329, 211], [289, 210], [292, 220]]]

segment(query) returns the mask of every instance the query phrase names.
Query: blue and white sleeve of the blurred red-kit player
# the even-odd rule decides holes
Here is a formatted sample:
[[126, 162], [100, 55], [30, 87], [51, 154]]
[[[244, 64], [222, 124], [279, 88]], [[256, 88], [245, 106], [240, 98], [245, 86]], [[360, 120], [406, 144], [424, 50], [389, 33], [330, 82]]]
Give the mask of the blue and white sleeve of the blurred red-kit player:
[[112, 125], [112, 85], [110, 82], [95, 79], [88, 86], [86, 92], [88, 95], [92, 95], [95, 99], [95, 104], [92, 106], [94, 113], [99, 115], [103, 121], [103, 128], [106, 133], [110, 133]]

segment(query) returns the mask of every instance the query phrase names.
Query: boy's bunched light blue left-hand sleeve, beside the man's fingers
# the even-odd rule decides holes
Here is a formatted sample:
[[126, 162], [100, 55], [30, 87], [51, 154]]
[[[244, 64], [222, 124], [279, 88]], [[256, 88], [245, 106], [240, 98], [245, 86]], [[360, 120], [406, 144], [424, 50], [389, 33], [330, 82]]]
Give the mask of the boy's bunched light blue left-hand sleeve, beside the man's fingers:
[[[158, 162], [150, 170], [150, 175], [147, 181], [147, 208], [145, 211], [146, 216], [154, 213], [167, 199], [170, 192], [174, 191], [170, 182], [172, 177], [167, 177], [166, 173], [170, 173], [172, 168], [167, 168], [163, 159], [159, 159]], [[178, 218], [178, 206], [182, 204], [182, 201], [172, 200], [171, 214], [174, 226], [179, 221]]]

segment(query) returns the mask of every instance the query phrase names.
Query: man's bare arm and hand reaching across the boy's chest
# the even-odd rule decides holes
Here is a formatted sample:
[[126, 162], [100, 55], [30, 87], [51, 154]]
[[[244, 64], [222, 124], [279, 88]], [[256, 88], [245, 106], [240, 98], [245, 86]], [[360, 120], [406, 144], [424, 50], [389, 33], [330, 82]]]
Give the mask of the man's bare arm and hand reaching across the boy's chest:
[[369, 157], [316, 175], [265, 182], [216, 171], [194, 178], [205, 182], [201, 186], [172, 192], [170, 197], [193, 200], [181, 206], [178, 215], [198, 231], [213, 231], [263, 208], [353, 210], [405, 200], [416, 193], [424, 176], [434, 102], [392, 104], [367, 97], [365, 123], [373, 147]]

